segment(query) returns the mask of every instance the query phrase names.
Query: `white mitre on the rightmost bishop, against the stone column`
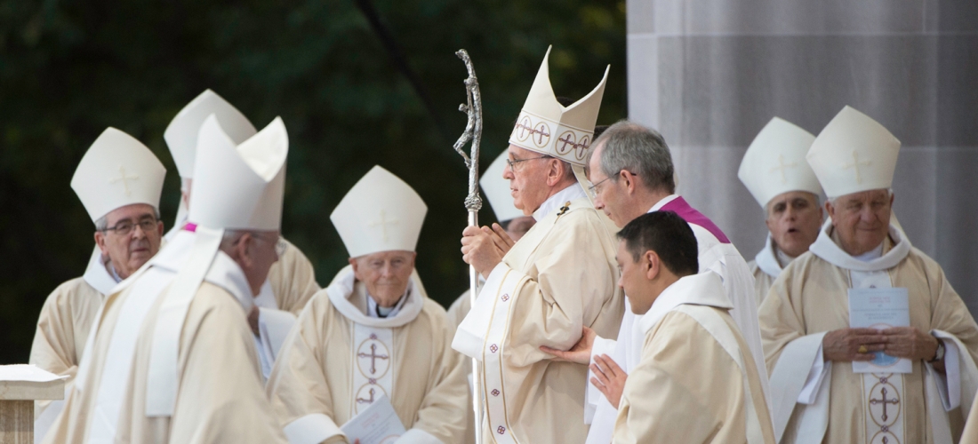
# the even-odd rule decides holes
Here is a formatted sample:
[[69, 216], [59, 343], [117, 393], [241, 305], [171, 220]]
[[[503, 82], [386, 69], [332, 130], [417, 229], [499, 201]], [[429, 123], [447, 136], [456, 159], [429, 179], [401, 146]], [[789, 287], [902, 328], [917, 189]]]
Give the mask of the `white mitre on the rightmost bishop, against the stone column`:
[[846, 106], [819, 133], [808, 150], [808, 164], [825, 194], [886, 189], [893, 185], [900, 141], [866, 114]]

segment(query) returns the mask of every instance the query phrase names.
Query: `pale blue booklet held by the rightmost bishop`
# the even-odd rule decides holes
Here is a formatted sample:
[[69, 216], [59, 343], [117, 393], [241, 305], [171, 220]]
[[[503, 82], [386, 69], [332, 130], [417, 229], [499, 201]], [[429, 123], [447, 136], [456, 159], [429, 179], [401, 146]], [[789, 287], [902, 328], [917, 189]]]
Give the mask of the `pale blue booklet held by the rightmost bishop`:
[[[910, 300], [906, 288], [849, 289], [849, 327], [874, 328], [909, 327]], [[873, 353], [871, 361], [853, 361], [854, 373], [911, 373], [911, 360], [890, 356], [882, 351]]]

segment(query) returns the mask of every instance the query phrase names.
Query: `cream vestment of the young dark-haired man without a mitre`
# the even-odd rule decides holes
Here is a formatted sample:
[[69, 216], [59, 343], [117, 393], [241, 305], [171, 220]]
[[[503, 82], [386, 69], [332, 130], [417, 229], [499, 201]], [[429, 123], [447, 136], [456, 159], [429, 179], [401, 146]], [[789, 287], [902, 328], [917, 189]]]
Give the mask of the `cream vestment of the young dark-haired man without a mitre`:
[[715, 273], [669, 286], [640, 320], [642, 359], [625, 383], [615, 444], [775, 444], [750, 349]]

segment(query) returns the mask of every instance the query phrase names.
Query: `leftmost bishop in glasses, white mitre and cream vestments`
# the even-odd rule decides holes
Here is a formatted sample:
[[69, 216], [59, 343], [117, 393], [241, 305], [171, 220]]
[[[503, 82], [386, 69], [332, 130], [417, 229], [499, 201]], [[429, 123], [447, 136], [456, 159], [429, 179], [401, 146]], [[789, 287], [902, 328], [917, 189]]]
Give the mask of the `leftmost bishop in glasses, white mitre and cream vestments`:
[[[71, 391], [88, 332], [106, 295], [159, 251], [159, 194], [166, 169], [131, 136], [109, 128], [81, 158], [71, 188], [95, 222], [85, 274], [58, 286], [41, 308], [30, 363], [67, 376]], [[64, 401], [35, 401], [35, 436], [44, 436]]]

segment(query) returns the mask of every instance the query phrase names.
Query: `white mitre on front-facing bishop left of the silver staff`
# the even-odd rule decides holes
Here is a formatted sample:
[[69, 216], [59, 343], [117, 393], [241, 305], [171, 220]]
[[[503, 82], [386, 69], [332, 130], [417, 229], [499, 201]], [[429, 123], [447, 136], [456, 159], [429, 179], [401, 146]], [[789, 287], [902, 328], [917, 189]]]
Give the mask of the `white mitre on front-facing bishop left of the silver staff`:
[[411, 185], [375, 166], [339, 201], [330, 221], [350, 258], [385, 251], [415, 251], [427, 213]]

